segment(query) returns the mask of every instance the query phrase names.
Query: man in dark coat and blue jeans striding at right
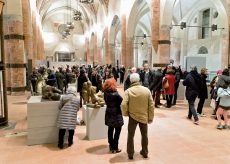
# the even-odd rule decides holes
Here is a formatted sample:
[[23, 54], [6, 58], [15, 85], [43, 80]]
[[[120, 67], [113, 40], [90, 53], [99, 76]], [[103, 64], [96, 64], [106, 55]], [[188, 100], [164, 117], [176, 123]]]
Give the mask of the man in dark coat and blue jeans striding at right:
[[183, 85], [186, 86], [185, 96], [189, 104], [188, 119], [194, 117], [194, 124], [199, 124], [199, 118], [195, 110], [195, 100], [201, 91], [201, 77], [197, 72], [197, 67], [192, 66], [191, 72], [186, 76], [183, 81]]

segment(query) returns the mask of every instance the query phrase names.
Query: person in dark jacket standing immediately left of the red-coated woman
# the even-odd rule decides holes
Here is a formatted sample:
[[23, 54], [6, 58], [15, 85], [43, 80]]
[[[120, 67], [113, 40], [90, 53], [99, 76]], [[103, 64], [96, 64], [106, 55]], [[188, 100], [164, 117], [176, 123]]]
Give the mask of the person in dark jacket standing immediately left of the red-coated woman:
[[161, 95], [161, 89], [162, 89], [162, 79], [163, 79], [162, 69], [159, 68], [153, 72], [152, 85], [150, 86], [150, 90], [152, 91], [153, 100], [155, 99], [156, 108], [159, 108], [158, 105], [161, 105], [160, 95]]

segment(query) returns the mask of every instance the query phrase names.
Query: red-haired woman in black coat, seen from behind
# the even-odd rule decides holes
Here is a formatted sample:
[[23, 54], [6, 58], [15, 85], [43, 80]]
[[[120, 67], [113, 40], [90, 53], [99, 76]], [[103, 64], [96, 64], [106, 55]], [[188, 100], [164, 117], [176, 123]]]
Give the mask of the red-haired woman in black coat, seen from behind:
[[[108, 126], [108, 142], [112, 153], [121, 152], [118, 149], [118, 141], [124, 120], [121, 113], [122, 97], [116, 89], [116, 81], [114, 78], [107, 79], [103, 85], [104, 99], [106, 103], [105, 125]], [[115, 134], [114, 134], [115, 130]]]

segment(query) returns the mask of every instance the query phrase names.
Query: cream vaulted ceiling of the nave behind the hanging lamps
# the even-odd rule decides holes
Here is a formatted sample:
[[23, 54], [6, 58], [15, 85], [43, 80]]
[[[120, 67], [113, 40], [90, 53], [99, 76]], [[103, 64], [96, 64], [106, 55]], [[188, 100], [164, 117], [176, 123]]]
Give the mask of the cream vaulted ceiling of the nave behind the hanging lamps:
[[60, 24], [73, 21], [74, 11], [81, 11], [83, 19], [73, 22], [75, 33], [83, 34], [88, 27], [97, 23], [100, 6], [105, 13], [108, 11], [108, 3], [109, 0], [94, 0], [91, 4], [80, 3], [79, 0], [37, 0], [37, 10], [44, 31], [56, 31]]

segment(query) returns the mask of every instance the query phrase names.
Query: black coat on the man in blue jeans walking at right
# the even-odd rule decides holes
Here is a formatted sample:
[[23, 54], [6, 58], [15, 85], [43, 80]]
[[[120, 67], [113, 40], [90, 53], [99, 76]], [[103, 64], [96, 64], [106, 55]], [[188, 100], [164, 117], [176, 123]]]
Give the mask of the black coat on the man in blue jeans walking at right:
[[195, 100], [201, 91], [201, 77], [197, 71], [191, 71], [183, 81], [186, 86], [185, 96], [187, 100]]

